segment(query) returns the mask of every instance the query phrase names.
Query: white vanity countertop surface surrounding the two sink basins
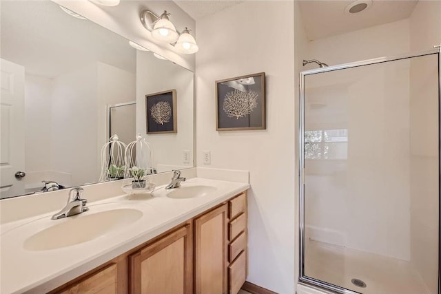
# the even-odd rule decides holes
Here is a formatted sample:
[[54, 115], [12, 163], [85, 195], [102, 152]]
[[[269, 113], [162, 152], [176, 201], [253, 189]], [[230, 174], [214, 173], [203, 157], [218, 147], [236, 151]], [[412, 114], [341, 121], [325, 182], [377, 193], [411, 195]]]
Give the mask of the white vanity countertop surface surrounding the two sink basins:
[[[249, 188], [245, 182], [205, 178], [182, 183], [182, 187], [191, 185], [207, 185], [216, 190], [200, 198], [172, 199], [165, 196], [167, 191], [161, 186], [153, 196], [121, 195], [92, 202], [88, 204], [90, 211], [78, 216], [51, 220], [57, 212], [52, 211], [2, 224], [0, 293], [51, 291]], [[83, 198], [88, 198], [87, 193]], [[123, 208], [139, 210], [143, 216], [132, 224], [80, 244], [46, 251], [29, 251], [23, 247], [31, 235], [48, 227], [99, 211]]]

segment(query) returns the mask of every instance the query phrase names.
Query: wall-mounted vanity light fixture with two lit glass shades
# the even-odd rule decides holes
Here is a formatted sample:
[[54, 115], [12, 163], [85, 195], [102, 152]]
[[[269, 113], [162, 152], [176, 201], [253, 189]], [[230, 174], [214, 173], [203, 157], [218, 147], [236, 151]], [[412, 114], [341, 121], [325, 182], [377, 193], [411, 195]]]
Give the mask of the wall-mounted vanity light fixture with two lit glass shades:
[[174, 45], [176, 52], [183, 54], [198, 52], [199, 48], [196, 40], [189, 34], [191, 30], [185, 28], [181, 34], [178, 34], [173, 23], [168, 18], [169, 15], [170, 13], [165, 10], [161, 17], [156, 16], [150, 10], [143, 10], [141, 12], [141, 23], [144, 25], [144, 28], [152, 32], [154, 39]]

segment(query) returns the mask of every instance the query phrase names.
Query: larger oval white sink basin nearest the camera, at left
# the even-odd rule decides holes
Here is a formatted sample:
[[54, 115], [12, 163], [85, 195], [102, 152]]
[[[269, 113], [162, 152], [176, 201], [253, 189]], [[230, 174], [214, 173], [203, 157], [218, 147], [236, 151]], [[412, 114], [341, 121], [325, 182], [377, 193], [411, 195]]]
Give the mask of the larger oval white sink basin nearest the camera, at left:
[[[143, 216], [137, 209], [112, 209], [97, 213], [90, 211], [62, 220], [26, 239], [28, 251], [44, 251], [87, 242], [114, 230], [127, 227]], [[61, 222], [59, 222], [61, 221]], [[59, 223], [57, 223], [59, 222]]]

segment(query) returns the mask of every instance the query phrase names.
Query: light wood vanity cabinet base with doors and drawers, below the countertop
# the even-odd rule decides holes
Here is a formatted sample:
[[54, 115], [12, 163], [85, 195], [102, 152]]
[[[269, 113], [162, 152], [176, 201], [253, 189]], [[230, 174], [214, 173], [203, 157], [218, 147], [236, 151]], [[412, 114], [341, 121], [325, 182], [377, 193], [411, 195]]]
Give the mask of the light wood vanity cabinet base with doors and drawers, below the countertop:
[[238, 293], [247, 272], [247, 195], [187, 220], [50, 293]]

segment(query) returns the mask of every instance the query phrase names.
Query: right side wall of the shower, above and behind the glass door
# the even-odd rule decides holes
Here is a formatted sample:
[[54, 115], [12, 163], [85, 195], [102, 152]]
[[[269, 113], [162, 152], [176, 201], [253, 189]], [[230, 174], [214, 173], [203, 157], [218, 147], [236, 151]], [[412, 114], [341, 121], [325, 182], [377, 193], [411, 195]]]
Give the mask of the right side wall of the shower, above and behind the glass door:
[[[411, 50], [441, 43], [441, 2], [419, 1], [410, 18]], [[438, 291], [438, 89], [435, 56], [411, 64], [411, 262]]]

